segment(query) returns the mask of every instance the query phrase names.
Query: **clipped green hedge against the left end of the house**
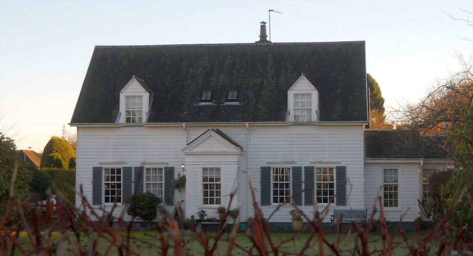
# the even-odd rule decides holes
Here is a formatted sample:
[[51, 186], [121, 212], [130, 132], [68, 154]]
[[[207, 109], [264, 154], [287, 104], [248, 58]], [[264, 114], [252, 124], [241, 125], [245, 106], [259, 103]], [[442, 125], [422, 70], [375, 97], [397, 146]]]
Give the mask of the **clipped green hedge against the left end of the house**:
[[[75, 170], [70, 169], [41, 169], [46, 173], [51, 179], [52, 183], [55, 185], [55, 188], [62, 192], [69, 201], [75, 202]], [[53, 189], [53, 193], [57, 193]]]

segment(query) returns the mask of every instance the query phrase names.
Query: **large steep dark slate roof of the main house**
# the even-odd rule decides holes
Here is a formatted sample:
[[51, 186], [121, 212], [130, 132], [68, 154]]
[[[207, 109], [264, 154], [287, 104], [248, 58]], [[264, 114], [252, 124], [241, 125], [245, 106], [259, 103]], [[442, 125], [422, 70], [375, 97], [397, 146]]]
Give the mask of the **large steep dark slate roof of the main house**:
[[[304, 73], [320, 121], [367, 121], [365, 42], [96, 46], [72, 124], [115, 123], [135, 75], [153, 94], [148, 123], [286, 121], [287, 90]], [[227, 90], [238, 105], [224, 105]], [[199, 105], [213, 90], [213, 105]]]

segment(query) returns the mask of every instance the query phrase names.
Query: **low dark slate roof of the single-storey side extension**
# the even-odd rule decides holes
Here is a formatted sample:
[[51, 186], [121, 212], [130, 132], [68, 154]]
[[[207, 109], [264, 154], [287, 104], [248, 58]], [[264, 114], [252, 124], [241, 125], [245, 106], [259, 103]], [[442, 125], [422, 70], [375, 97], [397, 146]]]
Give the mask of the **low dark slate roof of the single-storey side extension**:
[[446, 136], [421, 136], [413, 130], [365, 130], [366, 158], [446, 159]]

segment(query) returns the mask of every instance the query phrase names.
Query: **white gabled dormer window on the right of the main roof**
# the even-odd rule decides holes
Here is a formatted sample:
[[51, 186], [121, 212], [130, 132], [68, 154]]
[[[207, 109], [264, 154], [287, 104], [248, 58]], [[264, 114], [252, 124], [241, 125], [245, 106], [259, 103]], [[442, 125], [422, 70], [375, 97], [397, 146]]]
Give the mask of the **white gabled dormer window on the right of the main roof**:
[[309, 123], [318, 120], [318, 91], [301, 75], [287, 91], [286, 121]]

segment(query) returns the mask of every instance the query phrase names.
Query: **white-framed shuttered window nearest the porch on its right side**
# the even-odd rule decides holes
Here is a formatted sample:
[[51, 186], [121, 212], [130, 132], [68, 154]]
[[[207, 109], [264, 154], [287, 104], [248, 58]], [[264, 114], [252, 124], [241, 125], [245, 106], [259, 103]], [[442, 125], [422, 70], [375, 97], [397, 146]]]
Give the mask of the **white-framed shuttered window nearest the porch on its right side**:
[[291, 168], [272, 167], [272, 202], [284, 203], [291, 197]]

